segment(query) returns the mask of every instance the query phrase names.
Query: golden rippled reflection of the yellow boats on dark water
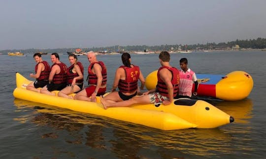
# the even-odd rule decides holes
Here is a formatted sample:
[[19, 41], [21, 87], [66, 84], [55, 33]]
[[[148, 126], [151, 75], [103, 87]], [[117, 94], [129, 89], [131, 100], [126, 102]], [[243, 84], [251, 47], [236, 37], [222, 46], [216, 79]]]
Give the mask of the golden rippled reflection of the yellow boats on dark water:
[[[252, 151], [250, 146], [241, 144], [251, 140], [249, 120], [252, 118], [252, 100], [209, 102], [232, 115], [235, 122], [213, 129], [163, 131], [21, 99], [14, 100], [17, 111], [31, 110], [33, 113], [22, 113], [14, 120], [67, 130], [70, 136], [63, 136], [67, 143], [111, 151], [118, 158], [158, 158], [158, 155], [159, 158], [191, 155], [214, 157], [217, 154], [231, 154], [233, 151]], [[42, 134], [42, 137], [59, 137], [53, 129], [52, 132]]]

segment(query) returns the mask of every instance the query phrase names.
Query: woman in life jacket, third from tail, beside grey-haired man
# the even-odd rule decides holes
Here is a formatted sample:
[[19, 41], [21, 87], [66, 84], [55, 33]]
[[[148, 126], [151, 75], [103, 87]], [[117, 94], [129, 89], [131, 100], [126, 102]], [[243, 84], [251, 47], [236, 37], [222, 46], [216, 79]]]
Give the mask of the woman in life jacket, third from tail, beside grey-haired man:
[[77, 57], [74, 54], [68, 55], [70, 66], [67, 68], [67, 86], [58, 93], [58, 96], [72, 99], [73, 96], [68, 96], [73, 93], [77, 93], [83, 89], [83, 65], [77, 61]]

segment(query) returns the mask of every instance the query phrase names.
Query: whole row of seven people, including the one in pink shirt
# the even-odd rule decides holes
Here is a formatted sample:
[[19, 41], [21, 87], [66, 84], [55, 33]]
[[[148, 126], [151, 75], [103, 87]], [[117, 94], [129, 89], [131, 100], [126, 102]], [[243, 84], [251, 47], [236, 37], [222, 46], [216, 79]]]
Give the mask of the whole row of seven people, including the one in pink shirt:
[[[88, 66], [88, 87], [83, 89], [84, 67], [77, 61], [74, 54], [68, 55], [70, 66], [60, 61], [57, 53], [51, 54], [50, 65], [43, 61], [41, 54], [33, 55], [36, 62], [35, 74], [31, 73], [30, 77], [36, 80], [30, 83], [26, 89], [41, 94], [56, 95], [52, 91], [59, 91], [58, 96], [96, 102], [96, 96], [100, 96], [100, 102], [104, 109], [109, 107], [126, 107], [133, 104], [149, 104], [154, 103], [156, 106], [160, 104], [170, 104], [176, 96], [191, 97], [191, 89], [193, 82], [197, 84], [195, 73], [187, 68], [187, 59], [182, 58], [182, 65], [185, 65], [179, 71], [177, 68], [169, 64], [170, 54], [163, 51], [159, 55], [159, 62], [162, 65], [158, 69], [158, 83], [155, 89], [141, 93], [145, 86], [145, 79], [140, 71], [139, 66], [133, 65], [129, 53], [122, 54], [122, 63], [117, 68], [113, 81], [111, 93], [106, 93], [107, 69], [102, 61], [98, 61], [93, 51], [88, 52], [87, 58], [90, 63]], [[190, 77], [190, 78], [187, 78]], [[196, 79], [195, 79], [196, 78]], [[141, 86], [138, 87], [138, 81]], [[186, 88], [180, 88], [180, 84], [185, 82]], [[118, 87], [119, 91], [116, 91]], [[39, 89], [41, 88], [41, 89]], [[197, 87], [195, 92], [197, 94]], [[180, 94], [182, 92], [182, 94]], [[71, 94], [76, 93], [74, 96]], [[142, 95], [140, 95], [142, 94]]]

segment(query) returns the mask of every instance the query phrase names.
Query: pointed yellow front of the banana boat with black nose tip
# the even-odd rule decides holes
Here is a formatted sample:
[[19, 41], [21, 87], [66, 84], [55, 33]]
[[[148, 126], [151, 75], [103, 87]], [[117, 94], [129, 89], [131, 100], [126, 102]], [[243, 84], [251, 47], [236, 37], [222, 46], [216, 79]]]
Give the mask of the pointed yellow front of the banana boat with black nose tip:
[[197, 128], [215, 128], [234, 121], [233, 117], [203, 100], [180, 98], [170, 105], [136, 105], [133, 108], [171, 113]]

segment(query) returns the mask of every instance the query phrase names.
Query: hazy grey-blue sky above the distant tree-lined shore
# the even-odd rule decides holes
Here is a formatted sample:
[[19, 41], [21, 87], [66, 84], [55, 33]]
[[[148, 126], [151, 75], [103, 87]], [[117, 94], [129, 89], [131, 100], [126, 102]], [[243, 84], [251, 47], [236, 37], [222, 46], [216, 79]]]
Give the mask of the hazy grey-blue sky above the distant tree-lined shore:
[[0, 50], [266, 38], [266, 0], [0, 0]]

